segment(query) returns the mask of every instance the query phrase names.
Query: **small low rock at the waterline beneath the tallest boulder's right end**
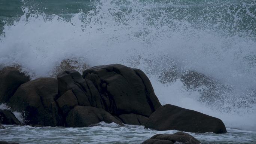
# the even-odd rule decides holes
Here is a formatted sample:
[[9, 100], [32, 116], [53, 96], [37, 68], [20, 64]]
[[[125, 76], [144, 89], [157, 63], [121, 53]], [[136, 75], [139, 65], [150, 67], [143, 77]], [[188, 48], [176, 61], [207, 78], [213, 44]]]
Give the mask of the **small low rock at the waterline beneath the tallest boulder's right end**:
[[148, 117], [141, 116], [138, 114], [130, 113], [130, 114], [121, 114], [118, 116], [123, 123], [128, 125], [145, 125]]

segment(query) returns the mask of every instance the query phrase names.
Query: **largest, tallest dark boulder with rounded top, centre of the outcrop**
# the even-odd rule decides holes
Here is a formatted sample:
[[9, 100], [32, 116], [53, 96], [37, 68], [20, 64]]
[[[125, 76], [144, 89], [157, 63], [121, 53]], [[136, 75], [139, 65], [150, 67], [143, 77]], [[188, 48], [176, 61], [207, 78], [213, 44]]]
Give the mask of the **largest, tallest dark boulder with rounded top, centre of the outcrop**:
[[84, 71], [83, 78], [92, 81], [101, 95], [102, 108], [115, 116], [133, 113], [149, 117], [161, 106], [141, 70], [120, 64], [103, 65]]

